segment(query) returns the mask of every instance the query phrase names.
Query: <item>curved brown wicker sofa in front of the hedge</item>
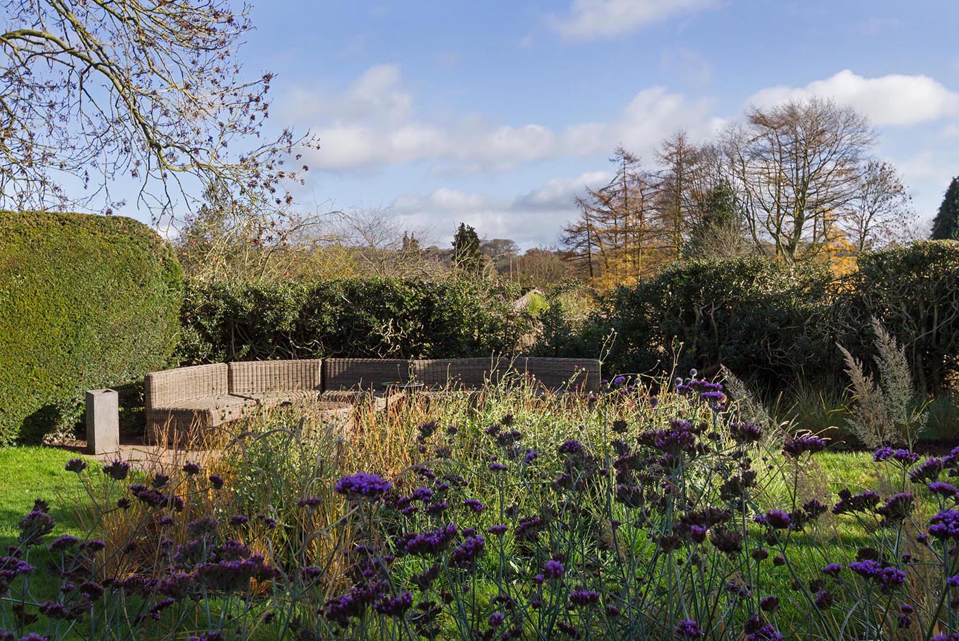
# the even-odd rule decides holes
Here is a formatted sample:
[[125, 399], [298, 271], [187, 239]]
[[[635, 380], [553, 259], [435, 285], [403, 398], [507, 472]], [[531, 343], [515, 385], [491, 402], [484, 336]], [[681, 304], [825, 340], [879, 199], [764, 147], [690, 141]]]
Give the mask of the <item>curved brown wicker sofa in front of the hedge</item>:
[[356, 401], [371, 399], [376, 408], [385, 407], [392, 385], [415, 381], [428, 394], [445, 394], [497, 384], [509, 374], [543, 390], [599, 389], [599, 361], [593, 358], [310, 358], [194, 365], [147, 375], [147, 438], [158, 441], [163, 434], [220, 425], [282, 404], [310, 403], [323, 418], [343, 423]]

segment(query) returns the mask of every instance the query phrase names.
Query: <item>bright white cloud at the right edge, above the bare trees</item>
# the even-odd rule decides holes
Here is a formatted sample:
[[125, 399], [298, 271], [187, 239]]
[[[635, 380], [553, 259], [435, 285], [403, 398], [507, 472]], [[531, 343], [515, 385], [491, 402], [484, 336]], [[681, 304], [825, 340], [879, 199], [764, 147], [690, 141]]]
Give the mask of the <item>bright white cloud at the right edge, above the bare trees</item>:
[[863, 78], [849, 69], [805, 87], [761, 90], [750, 102], [769, 106], [811, 96], [848, 104], [879, 126], [909, 126], [959, 115], [959, 93], [928, 76], [889, 75]]

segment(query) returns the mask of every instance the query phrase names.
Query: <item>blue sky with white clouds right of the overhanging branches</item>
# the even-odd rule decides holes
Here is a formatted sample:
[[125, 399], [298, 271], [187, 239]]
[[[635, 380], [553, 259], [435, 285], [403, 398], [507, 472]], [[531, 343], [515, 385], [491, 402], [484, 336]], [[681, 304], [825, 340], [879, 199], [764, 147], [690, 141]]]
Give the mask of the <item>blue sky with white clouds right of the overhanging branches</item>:
[[[622, 144], [651, 165], [749, 103], [817, 94], [869, 116], [929, 219], [959, 174], [955, 0], [563, 0], [254, 5], [246, 71], [311, 130], [306, 210], [385, 208], [446, 244], [553, 245]], [[132, 214], [132, 212], [124, 212]]]

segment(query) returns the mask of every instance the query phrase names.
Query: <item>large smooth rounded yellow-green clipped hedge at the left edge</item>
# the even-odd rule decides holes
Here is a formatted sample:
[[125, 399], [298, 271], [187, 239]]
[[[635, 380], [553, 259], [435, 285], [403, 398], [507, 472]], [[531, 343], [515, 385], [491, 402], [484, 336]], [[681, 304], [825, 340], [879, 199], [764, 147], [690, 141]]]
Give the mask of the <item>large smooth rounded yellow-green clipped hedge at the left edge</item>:
[[136, 220], [0, 212], [0, 445], [69, 429], [85, 390], [166, 366], [181, 287], [170, 246]]

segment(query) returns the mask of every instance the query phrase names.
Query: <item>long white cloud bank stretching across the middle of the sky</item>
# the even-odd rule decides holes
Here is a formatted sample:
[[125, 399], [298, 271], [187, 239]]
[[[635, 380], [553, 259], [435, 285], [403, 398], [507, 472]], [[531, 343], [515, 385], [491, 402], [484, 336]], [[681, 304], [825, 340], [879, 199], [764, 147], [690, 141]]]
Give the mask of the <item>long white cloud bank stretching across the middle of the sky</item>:
[[[294, 99], [304, 101], [302, 93]], [[442, 161], [447, 172], [490, 172], [551, 158], [606, 155], [618, 145], [644, 156], [676, 129], [686, 129], [692, 140], [709, 137], [720, 124], [711, 109], [708, 101], [690, 101], [656, 86], [637, 92], [620, 116], [606, 123], [553, 129], [479, 116], [426, 122], [416, 116], [399, 68], [378, 65], [310, 114], [321, 148], [310, 152], [307, 162], [317, 169], [355, 171]]]

